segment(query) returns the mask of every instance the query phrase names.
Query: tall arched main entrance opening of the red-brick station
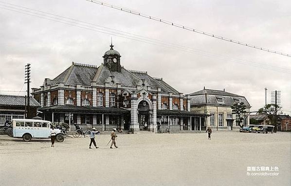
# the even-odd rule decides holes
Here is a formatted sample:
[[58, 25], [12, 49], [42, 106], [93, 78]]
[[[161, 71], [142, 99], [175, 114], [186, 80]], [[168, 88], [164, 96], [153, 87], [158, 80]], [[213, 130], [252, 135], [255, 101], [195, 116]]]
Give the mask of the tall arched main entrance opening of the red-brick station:
[[[138, 123], [139, 123], [139, 128], [141, 131], [149, 130], [149, 125], [150, 125], [150, 107], [147, 101], [140, 101], [137, 107], [138, 110]], [[146, 126], [145, 126], [146, 123]]]

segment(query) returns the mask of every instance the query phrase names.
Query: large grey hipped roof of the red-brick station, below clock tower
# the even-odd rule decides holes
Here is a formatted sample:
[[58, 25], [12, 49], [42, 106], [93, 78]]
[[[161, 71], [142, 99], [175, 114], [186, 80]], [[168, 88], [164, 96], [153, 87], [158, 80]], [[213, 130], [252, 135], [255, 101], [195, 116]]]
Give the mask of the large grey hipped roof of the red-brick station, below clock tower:
[[[113, 77], [114, 76], [114, 77]], [[112, 77], [115, 83], [124, 86], [136, 86], [142, 80], [145, 80], [153, 88], [161, 88], [161, 92], [179, 94], [179, 92], [166, 84], [162, 78], [157, 79], [149, 76], [147, 72], [127, 70], [121, 68], [121, 72], [110, 71], [108, 67], [103, 64], [99, 67], [92, 65], [84, 65], [72, 63], [70, 68], [58, 75], [55, 79], [46, 79], [46, 85], [56, 85], [57, 83], [64, 83], [68, 85], [83, 85], [90, 86], [91, 82], [103, 84], [108, 82], [108, 78]], [[108, 82], [109, 83], [109, 82]]]

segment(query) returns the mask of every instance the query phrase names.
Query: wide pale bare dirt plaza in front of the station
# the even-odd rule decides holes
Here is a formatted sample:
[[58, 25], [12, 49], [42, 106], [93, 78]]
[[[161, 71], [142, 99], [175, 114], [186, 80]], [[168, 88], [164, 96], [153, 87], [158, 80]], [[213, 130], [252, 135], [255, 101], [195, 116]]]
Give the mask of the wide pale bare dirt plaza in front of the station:
[[[290, 186], [291, 133], [109, 135], [24, 142], [0, 135], [0, 186]], [[110, 144], [109, 144], [110, 145]], [[277, 167], [276, 171], [250, 171]], [[247, 173], [275, 172], [251, 176]]]

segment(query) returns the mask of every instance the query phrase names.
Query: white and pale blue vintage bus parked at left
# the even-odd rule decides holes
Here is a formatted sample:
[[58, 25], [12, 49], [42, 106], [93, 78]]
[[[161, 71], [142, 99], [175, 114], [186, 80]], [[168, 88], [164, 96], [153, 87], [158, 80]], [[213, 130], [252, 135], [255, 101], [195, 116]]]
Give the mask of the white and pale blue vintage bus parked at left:
[[[22, 137], [24, 141], [34, 138], [49, 138], [51, 135], [51, 121], [39, 119], [12, 119], [13, 137]], [[55, 129], [55, 140], [63, 142], [65, 136], [59, 129]]]

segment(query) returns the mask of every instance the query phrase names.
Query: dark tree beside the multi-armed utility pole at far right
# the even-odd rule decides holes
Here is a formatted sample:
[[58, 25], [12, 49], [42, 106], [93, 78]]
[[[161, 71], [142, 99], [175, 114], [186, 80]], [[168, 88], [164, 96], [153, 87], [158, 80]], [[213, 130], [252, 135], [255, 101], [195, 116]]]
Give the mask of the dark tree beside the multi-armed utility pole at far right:
[[274, 129], [275, 132], [277, 132], [277, 123], [278, 123], [277, 112], [280, 111], [281, 108], [282, 107], [276, 104], [266, 104], [263, 108], [260, 108], [258, 110], [258, 114], [268, 115], [271, 125], [275, 126], [275, 129]]

